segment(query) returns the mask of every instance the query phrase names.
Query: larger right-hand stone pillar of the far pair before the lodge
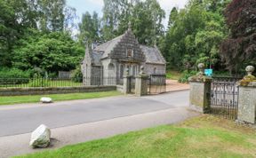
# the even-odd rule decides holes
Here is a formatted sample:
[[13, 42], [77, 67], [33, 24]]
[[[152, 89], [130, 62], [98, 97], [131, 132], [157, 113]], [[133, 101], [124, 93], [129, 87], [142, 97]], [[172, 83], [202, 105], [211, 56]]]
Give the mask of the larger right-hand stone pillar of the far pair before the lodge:
[[144, 73], [144, 67], [140, 67], [140, 75], [136, 76], [135, 95], [144, 96], [148, 94], [148, 75]]

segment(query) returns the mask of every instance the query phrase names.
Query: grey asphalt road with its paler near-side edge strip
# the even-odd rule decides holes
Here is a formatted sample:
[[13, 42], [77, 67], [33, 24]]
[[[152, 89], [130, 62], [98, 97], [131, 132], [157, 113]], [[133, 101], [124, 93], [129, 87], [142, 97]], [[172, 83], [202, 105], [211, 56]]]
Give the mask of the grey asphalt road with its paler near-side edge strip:
[[31, 131], [42, 123], [52, 130], [53, 140], [48, 150], [182, 122], [199, 115], [187, 107], [188, 91], [142, 98], [121, 96], [49, 105], [3, 106], [0, 107], [0, 158], [42, 151], [28, 146]]

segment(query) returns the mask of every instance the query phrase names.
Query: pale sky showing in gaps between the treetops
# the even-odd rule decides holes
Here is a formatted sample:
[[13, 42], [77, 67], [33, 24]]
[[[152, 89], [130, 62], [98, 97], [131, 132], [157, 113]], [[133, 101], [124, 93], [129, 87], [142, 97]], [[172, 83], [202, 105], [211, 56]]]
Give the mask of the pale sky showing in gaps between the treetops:
[[[179, 8], [184, 8], [188, 0], [158, 0], [158, 2], [166, 13], [166, 18], [164, 20], [164, 26], [166, 26], [172, 7], [177, 6]], [[86, 11], [90, 13], [96, 11], [99, 13], [100, 17], [102, 16], [103, 0], [68, 0], [68, 5], [76, 8], [76, 13], [79, 17], [82, 17], [82, 14]]]

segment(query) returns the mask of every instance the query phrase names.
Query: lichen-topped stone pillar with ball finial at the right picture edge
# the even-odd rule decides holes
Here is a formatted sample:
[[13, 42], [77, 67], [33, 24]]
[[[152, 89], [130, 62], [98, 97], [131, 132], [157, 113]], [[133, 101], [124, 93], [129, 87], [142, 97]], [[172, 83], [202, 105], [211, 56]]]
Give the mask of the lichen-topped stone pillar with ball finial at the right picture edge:
[[246, 67], [248, 75], [238, 83], [238, 122], [256, 123], [256, 77], [252, 75], [254, 69], [252, 66]]

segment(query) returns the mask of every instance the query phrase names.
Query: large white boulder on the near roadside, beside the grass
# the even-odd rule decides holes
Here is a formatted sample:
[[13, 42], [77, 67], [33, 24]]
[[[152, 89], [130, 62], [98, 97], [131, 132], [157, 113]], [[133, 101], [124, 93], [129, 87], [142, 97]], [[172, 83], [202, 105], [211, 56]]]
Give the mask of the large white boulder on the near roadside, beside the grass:
[[29, 146], [32, 146], [33, 148], [45, 148], [50, 146], [50, 143], [51, 130], [48, 129], [44, 124], [42, 124], [32, 132]]

